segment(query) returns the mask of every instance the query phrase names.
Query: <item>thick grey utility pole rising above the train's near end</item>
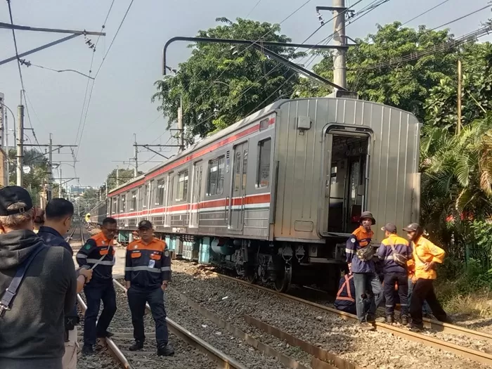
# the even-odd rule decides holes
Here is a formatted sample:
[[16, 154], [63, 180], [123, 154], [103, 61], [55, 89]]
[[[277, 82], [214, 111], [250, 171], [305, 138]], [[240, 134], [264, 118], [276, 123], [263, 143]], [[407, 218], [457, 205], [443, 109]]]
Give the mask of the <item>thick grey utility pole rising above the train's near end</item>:
[[[335, 8], [335, 21], [333, 24], [333, 42], [338, 46], [345, 46], [345, 0], [333, 0]], [[345, 50], [337, 49], [333, 51], [333, 82], [344, 89], [347, 89], [347, 60]]]

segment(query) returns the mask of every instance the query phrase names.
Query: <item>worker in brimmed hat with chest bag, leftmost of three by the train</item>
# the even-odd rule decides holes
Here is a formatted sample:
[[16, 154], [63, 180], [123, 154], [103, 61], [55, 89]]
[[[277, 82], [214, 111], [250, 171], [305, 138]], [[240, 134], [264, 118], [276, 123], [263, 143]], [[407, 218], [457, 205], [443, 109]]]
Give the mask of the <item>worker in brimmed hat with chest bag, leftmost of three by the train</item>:
[[354, 274], [357, 318], [365, 330], [374, 329], [370, 322], [375, 321], [376, 308], [383, 297], [380, 278], [375, 273], [375, 252], [370, 243], [374, 235], [370, 227], [374, 224], [373, 214], [362, 212], [361, 226], [350, 235], [345, 248], [349, 271]]

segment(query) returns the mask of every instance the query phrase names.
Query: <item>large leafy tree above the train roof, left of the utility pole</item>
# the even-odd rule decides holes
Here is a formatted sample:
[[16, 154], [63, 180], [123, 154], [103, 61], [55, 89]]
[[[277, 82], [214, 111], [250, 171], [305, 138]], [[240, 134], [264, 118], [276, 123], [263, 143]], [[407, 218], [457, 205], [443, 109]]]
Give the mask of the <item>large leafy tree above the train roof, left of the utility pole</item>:
[[[280, 34], [277, 24], [241, 18], [236, 22], [226, 18], [217, 18], [217, 21], [221, 25], [200, 30], [198, 37], [291, 41]], [[169, 122], [176, 121], [182, 99], [188, 141], [197, 134], [206, 136], [228, 127], [281, 96], [290, 97], [297, 84], [296, 72], [252, 47], [207, 43], [191, 47], [192, 55], [179, 65], [175, 76], [155, 82], [157, 93], [152, 98], [160, 102], [157, 110], [164, 112]], [[270, 49], [290, 60], [304, 56], [293, 48]]]

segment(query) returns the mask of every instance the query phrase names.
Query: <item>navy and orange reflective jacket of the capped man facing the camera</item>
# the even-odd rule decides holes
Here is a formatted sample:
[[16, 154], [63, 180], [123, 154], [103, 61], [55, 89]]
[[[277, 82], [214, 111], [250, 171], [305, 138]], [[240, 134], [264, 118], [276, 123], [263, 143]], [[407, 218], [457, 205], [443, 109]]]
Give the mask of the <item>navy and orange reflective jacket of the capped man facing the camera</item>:
[[153, 289], [163, 280], [171, 280], [171, 258], [166, 242], [154, 238], [148, 244], [142, 239], [127, 247], [124, 280], [132, 286]]

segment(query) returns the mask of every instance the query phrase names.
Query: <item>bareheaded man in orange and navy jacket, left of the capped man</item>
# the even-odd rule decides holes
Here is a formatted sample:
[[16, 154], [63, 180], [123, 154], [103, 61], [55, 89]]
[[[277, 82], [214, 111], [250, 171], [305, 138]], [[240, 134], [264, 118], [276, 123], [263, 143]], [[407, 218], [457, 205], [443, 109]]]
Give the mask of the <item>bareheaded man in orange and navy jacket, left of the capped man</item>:
[[[111, 319], [116, 313], [116, 292], [112, 285], [112, 266], [115, 264], [115, 235], [117, 221], [105, 218], [101, 232], [93, 235], [77, 252], [77, 263], [84, 268], [93, 268], [91, 282], [84, 287], [87, 310], [84, 316], [84, 347], [82, 354], [93, 355], [96, 338], [111, 337], [108, 332]], [[104, 309], [98, 320], [99, 307]], [[96, 326], [97, 321], [97, 326]]]

